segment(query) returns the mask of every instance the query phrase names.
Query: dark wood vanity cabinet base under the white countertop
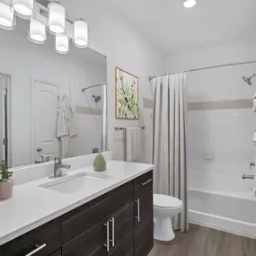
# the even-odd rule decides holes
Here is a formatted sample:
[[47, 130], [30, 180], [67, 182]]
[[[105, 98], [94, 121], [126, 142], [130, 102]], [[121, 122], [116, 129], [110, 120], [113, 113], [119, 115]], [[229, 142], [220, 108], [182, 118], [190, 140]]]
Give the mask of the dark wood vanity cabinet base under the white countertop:
[[146, 256], [153, 229], [153, 172], [147, 172], [5, 243], [0, 255]]

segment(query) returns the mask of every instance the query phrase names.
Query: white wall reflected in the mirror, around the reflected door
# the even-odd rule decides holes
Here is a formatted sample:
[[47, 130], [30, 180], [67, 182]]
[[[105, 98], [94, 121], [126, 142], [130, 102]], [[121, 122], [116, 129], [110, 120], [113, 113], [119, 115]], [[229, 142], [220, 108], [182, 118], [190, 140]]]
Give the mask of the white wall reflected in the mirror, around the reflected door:
[[[37, 45], [26, 38], [26, 34], [16, 31], [0, 31], [1, 47], [0, 72], [11, 75], [11, 166], [34, 163], [32, 147], [31, 84], [39, 79], [57, 84], [61, 97], [66, 94], [72, 104], [100, 108], [95, 104], [93, 93], [99, 94], [99, 88], [82, 93], [81, 89], [93, 84], [102, 84], [106, 80], [105, 57], [86, 49], [81, 57], [71, 49], [62, 56], [54, 51], [54, 46]], [[79, 53], [79, 52], [78, 52]], [[46, 102], [47, 104], [47, 102]], [[102, 125], [98, 125], [98, 116], [75, 114], [77, 137], [72, 140], [71, 152], [74, 155], [90, 154], [92, 147], [101, 146]], [[53, 131], [55, 133], [55, 130]], [[39, 159], [40, 160], [40, 159]]]

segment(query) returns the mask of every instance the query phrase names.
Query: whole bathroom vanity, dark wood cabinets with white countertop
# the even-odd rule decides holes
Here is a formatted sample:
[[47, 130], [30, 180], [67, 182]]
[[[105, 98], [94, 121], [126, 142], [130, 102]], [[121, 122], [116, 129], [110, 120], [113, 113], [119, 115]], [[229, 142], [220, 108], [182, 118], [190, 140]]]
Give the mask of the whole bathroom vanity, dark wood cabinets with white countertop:
[[[12, 227], [4, 225], [5, 231], [0, 228], [0, 244], [2, 244], [0, 255], [146, 256], [154, 244], [152, 171], [154, 166], [118, 161], [110, 161], [108, 166], [108, 171], [104, 174], [105, 184], [93, 185], [93, 180], [90, 180], [91, 192], [84, 188], [84, 190], [70, 193], [67, 187], [52, 183], [56, 181], [50, 181], [48, 187], [43, 184], [47, 178], [17, 186], [20, 187], [19, 190], [23, 189], [22, 196], [31, 190], [38, 190], [27, 200], [31, 200], [32, 204], [32, 200], [39, 193], [38, 200], [41, 202], [34, 206], [31, 205], [29, 210], [17, 208], [20, 211], [20, 218], [15, 219], [19, 211], [16, 214], [10, 213], [10, 216], [1, 216], [0, 225], [4, 225], [3, 218], [5, 218]], [[82, 178], [86, 175], [89, 175], [89, 178], [95, 175], [92, 167], [79, 169], [74, 173], [78, 175], [76, 177]], [[76, 182], [76, 180], [81, 179], [74, 179], [71, 182]], [[76, 187], [80, 185], [73, 183]], [[44, 192], [45, 198], [42, 196]], [[22, 196], [17, 195], [17, 198]], [[51, 199], [47, 203], [49, 197]], [[18, 199], [15, 199], [14, 195], [9, 202], [0, 204], [0, 213], [4, 212], [4, 207], [18, 207], [19, 203], [15, 203], [15, 200]], [[44, 214], [44, 212], [49, 213], [46, 207], [52, 207], [51, 214], [48, 216]], [[28, 216], [22, 219], [22, 214]], [[30, 214], [31, 221], [29, 221]], [[43, 224], [40, 225], [40, 223]], [[17, 226], [17, 230], [13, 229], [12, 232], [14, 225]], [[25, 232], [26, 230], [30, 231]], [[25, 234], [20, 235], [21, 233]]]

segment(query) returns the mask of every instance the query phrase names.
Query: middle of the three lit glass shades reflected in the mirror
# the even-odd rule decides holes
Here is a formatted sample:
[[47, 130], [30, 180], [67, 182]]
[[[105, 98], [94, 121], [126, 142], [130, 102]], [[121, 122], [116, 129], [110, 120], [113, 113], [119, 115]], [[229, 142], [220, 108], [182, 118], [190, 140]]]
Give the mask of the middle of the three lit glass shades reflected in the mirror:
[[28, 39], [34, 43], [43, 44], [47, 40], [47, 32], [45, 24], [31, 19], [30, 30], [28, 32]]

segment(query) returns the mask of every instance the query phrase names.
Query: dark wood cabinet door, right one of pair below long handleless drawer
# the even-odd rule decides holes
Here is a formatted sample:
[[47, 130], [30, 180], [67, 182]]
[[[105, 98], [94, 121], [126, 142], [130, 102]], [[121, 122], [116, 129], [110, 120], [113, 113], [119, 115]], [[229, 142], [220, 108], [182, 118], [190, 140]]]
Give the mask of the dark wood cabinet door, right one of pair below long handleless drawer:
[[134, 201], [110, 216], [110, 255], [127, 256], [134, 252]]

